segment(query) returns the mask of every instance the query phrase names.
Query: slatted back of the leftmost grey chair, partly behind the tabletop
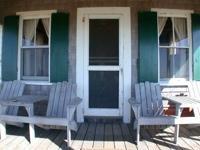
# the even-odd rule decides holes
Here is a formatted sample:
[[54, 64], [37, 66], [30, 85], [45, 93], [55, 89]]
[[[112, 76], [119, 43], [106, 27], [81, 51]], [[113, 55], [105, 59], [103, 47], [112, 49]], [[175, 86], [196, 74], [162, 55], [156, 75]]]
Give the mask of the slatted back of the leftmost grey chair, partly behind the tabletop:
[[[6, 81], [3, 82], [3, 87], [0, 92], [0, 100], [7, 100], [12, 97], [21, 96], [24, 91], [25, 84], [21, 81]], [[9, 115], [17, 115], [19, 107], [9, 106], [6, 113]]]

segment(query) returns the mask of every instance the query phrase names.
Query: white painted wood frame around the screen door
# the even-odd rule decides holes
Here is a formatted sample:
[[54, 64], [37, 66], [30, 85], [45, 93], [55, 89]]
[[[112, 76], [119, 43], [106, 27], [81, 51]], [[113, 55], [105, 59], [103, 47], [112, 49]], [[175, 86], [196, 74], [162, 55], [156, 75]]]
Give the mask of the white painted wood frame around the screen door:
[[[95, 15], [94, 15], [95, 14]], [[91, 18], [104, 18], [104, 17], [118, 17], [121, 18], [121, 36], [120, 40], [123, 39], [123, 43], [120, 43], [120, 48], [123, 49], [120, 53], [120, 81], [122, 89], [120, 90], [119, 96], [121, 97], [121, 102], [119, 102], [119, 113], [120, 116], [123, 116], [124, 122], [130, 122], [130, 105], [127, 102], [127, 99], [131, 96], [131, 28], [130, 28], [130, 8], [127, 7], [101, 7], [101, 8], [78, 8], [77, 12], [77, 53], [76, 53], [76, 82], [77, 82], [77, 95], [84, 99], [84, 104], [80, 105], [78, 108], [78, 121], [84, 121], [84, 114], [89, 114], [88, 111], [88, 99], [87, 99], [87, 76], [88, 70], [87, 66], [88, 61], [84, 60], [84, 57], [88, 56], [88, 53], [85, 49], [88, 49], [88, 42], [84, 42], [84, 39], [88, 39], [88, 36], [85, 34], [88, 31], [88, 19]], [[122, 59], [123, 58], [123, 59]], [[122, 68], [122, 69], [121, 69]], [[91, 69], [91, 68], [90, 68]], [[122, 72], [123, 70], [123, 72]], [[124, 78], [126, 74], [126, 78]], [[122, 105], [123, 104], [123, 105]], [[99, 110], [96, 110], [98, 114]], [[104, 112], [104, 111], [102, 111]], [[105, 113], [104, 113], [105, 114]], [[114, 115], [110, 113], [110, 115]], [[103, 114], [102, 114], [103, 116]]]

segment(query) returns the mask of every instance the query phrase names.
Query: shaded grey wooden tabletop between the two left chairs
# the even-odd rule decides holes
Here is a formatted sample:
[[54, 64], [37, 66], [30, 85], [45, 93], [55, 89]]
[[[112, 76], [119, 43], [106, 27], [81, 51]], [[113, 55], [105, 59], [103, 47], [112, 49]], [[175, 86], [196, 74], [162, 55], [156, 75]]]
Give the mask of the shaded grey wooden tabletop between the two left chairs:
[[9, 105], [9, 106], [27, 106], [32, 105], [36, 102], [47, 100], [47, 96], [41, 96], [41, 95], [22, 95], [18, 97], [13, 97], [8, 100], [2, 100], [0, 101], [1, 105]]

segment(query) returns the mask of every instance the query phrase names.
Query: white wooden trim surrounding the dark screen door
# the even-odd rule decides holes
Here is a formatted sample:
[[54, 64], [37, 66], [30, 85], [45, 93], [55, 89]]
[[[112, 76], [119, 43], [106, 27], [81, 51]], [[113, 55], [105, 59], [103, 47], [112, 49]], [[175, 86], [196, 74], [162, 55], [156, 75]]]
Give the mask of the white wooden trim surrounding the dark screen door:
[[[79, 122], [84, 122], [84, 105], [87, 100], [84, 99], [84, 90], [86, 86], [84, 85], [85, 81], [85, 65], [84, 57], [85, 52], [84, 48], [86, 47], [84, 43], [85, 34], [84, 31], [87, 31], [87, 25], [84, 23], [84, 16], [87, 14], [94, 14], [94, 17], [99, 16], [102, 18], [102, 15], [109, 17], [119, 17], [122, 19], [122, 41], [123, 44], [120, 45], [123, 48], [123, 53], [120, 54], [124, 59], [122, 59], [122, 68], [123, 74], [125, 77], [123, 81], [122, 95], [123, 105], [122, 105], [122, 116], [125, 123], [130, 122], [130, 105], [128, 104], [128, 98], [131, 97], [131, 21], [130, 21], [130, 8], [129, 7], [97, 7], [97, 8], [78, 8], [77, 10], [77, 52], [76, 52], [76, 82], [77, 82], [77, 95], [83, 98], [83, 103], [78, 107], [77, 110], [77, 119]], [[90, 15], [93, 17], [93, 15]], [[120, 57], [121, 57], [120, 56]], [[93, 68], [91, 68], [93, 69]], [[105, 69], [105, 68], [104, 68]], [[109, 66], [108, 66], [109, 69]], [[119, 68], [113, 68], [118, 70]], [[106, 114], [106, 110], [101, 109], [103, 114]], [[110, 111], [110, 110], [109, 110]], [[111, 110], [112, 111], [112, 110]], [[113, 110], [114, 113], [114, 110]]]

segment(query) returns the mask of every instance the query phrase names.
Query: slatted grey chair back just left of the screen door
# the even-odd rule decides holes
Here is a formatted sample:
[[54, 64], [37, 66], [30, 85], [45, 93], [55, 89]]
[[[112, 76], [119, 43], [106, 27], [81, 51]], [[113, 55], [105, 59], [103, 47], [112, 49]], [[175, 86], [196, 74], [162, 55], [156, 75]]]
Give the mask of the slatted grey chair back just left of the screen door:
[[67, 82], [53, 84], [50, 89], [47, 114], [49, 117], [67, 117], [67, 106], [76, 97], [76, 85]]

